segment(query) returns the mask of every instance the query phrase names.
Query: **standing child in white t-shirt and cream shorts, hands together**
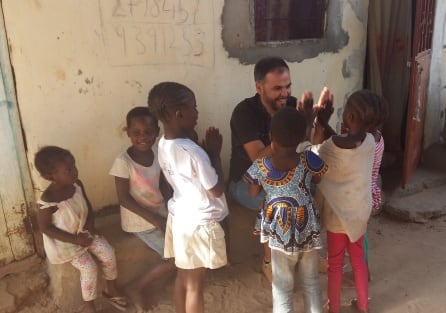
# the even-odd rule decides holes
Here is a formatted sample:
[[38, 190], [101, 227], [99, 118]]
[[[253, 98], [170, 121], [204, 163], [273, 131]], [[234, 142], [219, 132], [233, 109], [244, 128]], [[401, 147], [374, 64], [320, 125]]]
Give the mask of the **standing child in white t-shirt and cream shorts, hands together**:
[[176, 311], [204, 312], [206, 268], [227, 263], [225, 234], [220, 225], [228, 214], [220, 160], [222, 137], [218, 129], [209, 128], [203, 141], [206, 151], [189, 139], [198, 111], [194, 93], [184, 85], [163, 82], [154, 86], [148, 105], [163, 123], [158, 159], [173, 188], [164, 256], [174, 257], [178, 269]]

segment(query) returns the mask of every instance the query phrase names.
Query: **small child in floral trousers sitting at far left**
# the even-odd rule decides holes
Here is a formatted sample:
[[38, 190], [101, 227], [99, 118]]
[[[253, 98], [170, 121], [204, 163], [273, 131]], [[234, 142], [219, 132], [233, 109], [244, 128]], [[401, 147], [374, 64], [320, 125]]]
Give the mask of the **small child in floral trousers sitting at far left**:
[[116, 287], [117, 269], [113, 247], [94, 228], [93, 211], [78, 179], [75, 160], [70, 151], [48, 146], [34, 159], [36, 169], [51, 184], [38, 201], [37, 219], [43, 232], [48, 260], [53, 264], [70, 262], [80, 271], [83, 312], [96, 312], [97, 265], [99, 259], [107, 281], [104, 297], [119, 310], [125, 311], [127, 300]]

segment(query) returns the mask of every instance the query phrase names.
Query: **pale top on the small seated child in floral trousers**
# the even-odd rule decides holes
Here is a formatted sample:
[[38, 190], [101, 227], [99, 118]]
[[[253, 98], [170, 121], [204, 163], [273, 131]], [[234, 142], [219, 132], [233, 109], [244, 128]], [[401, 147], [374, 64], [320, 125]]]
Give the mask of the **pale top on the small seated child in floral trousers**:
[[[61, 202], [39, 200], [37, 203], [40, 205], [40, 209], [56, 206], [58, 209], [51, 216], [53, 225], [70, 234], [77, 235], [84, 230], [88, 216], [88, 206], [81, 187], [77, 184], [74, 184], [74, 187], [73, 196], [67, 200]], [[87, 250], [86, 247], [60, 241], [45, 234], [43, 234], [43, 246], [46, 256], [52, 264], [70, 262]]]

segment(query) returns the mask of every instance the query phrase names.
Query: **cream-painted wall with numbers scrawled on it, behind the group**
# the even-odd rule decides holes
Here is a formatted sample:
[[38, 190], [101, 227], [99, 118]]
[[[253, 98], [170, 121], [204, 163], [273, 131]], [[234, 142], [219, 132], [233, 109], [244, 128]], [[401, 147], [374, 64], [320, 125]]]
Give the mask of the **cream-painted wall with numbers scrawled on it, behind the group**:
[[[345, 97], [362, 86], [368, 8], [368, 1], [336, 3], [345, 45], [289, 63], [294, 95], [306, 89], [318, 95], [324, 85], [332, 89], [333, 126]], [[107, 173], [129, 145], [122, 131], [125, 114], [146, 105], [151, 86], [164, 80], [195, 91], [197, 131], [201, 135], [209, 125], [221, 129], [228, 168], [232, 109], [255, 88], [253, 65], [229, 57], [223, 45], [225, 1], [3, 0], [2, 5], [37, 193], [46, 182], [33, 169], [34, 153], [60, 145], [76, 157], [93, 206], [116, 203]]]

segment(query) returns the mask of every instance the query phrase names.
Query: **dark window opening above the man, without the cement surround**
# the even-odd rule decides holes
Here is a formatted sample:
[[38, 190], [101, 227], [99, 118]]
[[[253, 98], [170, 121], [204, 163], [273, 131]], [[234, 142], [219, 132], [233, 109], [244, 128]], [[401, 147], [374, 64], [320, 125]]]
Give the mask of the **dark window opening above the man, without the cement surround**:
[[255, 41], [322, 38], [325, 0], [255, 0]]

